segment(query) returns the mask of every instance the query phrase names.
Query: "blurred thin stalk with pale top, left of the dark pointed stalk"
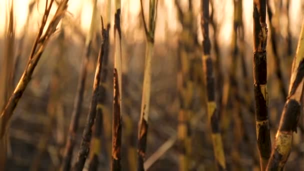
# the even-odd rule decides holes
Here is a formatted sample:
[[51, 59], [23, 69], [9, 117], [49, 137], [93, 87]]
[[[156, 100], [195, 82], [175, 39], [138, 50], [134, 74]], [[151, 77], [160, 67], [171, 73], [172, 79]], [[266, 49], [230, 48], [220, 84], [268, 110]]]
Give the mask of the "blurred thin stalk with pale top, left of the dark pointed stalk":
[[91, 53], [91, 42], [92, 42], [92, 35], [94, 31], [94, 19], [95, 19], [95, 12], [96, 11], [96, 0], [93, 3], [93, 11], [91, 17], [90, 28], [88, 34], [86, 36], [85, 41], [85, 54], [82, 57], [81, 67], [80, 67], [80, 76], [78, 78], [78, 85], [77, 85], [77, 93], [74, 99], [73, 111], [71, 114], [71, 120], [69, 123], [68, 128], [68, 135], [67, 140], [65, 143], [64, 153], [63, 153], [63, 161], [60, 167], [60, 170], [67, 171], [70, 169], [71, 166], [71, 158], [73, 153], [73, 148], [75, 145], [75, 138], [76, 138], [76, 131], [78, 129], [79, 124], [79, 117], [82, 109], [82, 101], [83, 101], [83, 92], [84, 92], [84, 85], [85, 79], [87, 74], [87, 65], [89, 55]]

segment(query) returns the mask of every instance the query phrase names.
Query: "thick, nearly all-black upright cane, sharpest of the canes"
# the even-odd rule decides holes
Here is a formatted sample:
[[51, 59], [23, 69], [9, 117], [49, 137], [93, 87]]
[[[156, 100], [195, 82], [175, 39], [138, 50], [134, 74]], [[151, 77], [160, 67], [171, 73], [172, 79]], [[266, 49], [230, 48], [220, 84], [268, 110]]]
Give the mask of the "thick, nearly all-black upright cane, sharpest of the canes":
[[256, 139], [260, 168], [264, 170], [271, 151], [268, 122], [267, 61], [266, 61], [266, 0], [253, 0], [253, 79]]

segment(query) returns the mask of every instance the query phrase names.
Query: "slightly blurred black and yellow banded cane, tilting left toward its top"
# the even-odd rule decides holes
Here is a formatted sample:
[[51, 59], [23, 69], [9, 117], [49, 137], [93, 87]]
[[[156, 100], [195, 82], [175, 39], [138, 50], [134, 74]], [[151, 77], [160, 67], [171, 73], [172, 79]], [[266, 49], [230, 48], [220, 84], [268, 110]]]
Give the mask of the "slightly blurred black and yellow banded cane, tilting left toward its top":
[[204, 78], [207, 89], [207, 113], [208, 122], [211, 126], [212, 144], [214, 150], [214, 157], [216, 167], [219, 170], [226, 169], [225, 156], [223, 151], [223, 144], [219, 130], [218, 113], [215, 102], [215, 84], [213, 77], [212, 59], [210, 56], [210, 39], [209, 39], [209, 0], [201, 0], [201, 31], [202, 31], [202, 64]]

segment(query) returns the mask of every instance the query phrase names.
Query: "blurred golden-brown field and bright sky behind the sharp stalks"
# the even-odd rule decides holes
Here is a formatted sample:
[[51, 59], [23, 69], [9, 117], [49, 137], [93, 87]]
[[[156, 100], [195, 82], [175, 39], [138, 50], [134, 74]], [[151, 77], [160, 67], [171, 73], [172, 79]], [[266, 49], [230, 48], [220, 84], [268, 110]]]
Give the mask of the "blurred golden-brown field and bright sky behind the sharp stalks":
[[[20, 60], [16, 67], [16, 83], [24, 70], [28, 55], [31, 50], [39, 22], [43, 14], [45, 1], [35, 0], [33, 6], [29, 8], [32, 0], [13, 0], [14, 30], [13, 55], [21, 51]], [[144, 11], [147, 16], [148, 0], [144, 1]], [[204, 99], [204, 86], [202, 82], [201, 66], [201, 30], [200, 30], [200, 0], [191, 0], [192, 10], [188, 10], [188, 0], [180, 0], [184, 15], [191, 15], [193, 29], [188, 35], [182, 35], [182, 30], [186, 29], [177, 14], [174, 0], [159, 0], [157, 9], [154, 56], [152, 57], [151, 76], [151, 99], [150, 114], [147, 139], [146, 158], [149, 158], [163, 143], [176, 139], [178, 124], [178, 49], [181, 48], [178, 40], [181, 36], [196, 41], [190, 44], [191, 55], [187, 59], [188, 66], [192, 69], [193, 95], [191, 111], [193, 119], [190, 121], [191, 140], [191, 160], [190, 170], [214, 170], [213, 151], [210, 139], [210, 128], [207, 123], [207, 114]], [[278, 57], [281, 61], [280, 68], [284, 86], [289, 85], [289, 76], [292, 58], [295, 54], [296, 44], [300, 31], [302, 18], [304, 16], [303, 0], [269, 0], [272, 8], [272, 24], [277, 30], [276, 44]], [[100, 23], [99, 15], [106, 15], [106, 2], [97, 0], [97, 23]], [[289, 3], [289, 10], [286, 4]], [[0, 0], [0, 54], [5, 53], [5, 34], [7, 31], [7, 16], [11, 0]], [[110, 29], [110, 54], [109, 54], [109, 74], [107, 84], [107, 110], [104, 112], [104, 139], [100, 152], [100, 170], [108, 170], [110, 154], [110, 131], [112, 113], [112, 69], [113, 69], [113, 10], [112, 1], [111, 29]], [[50, 16], [55, 12], [55, 4], [52, 7]], [[122, 136], [127, 133], [126, 126], [131, 120], [131, 137], [122, 138], [122, 167], [123, 170], [130, 170], [128, 160], [128, 145], [136, 146], [137, 122], [140, 114], [140, 102], [142, 93], [143, 65], [145, 52], [145, 36], [143, 23], [140, 16], [139, 0], [121, 0], [121, 29], [122, 29]], [[210, 5], [211, 8], [211, 5]], [[222, 96], [219, 101], [222, 107], [220, 120], [222, 137], [225, 149], [226, 162], [229, 170], [250, 170], [259, 169], [258, 154], [255, 141], [255, 124], [253, 106], [253, 78], [252, 78], [252, 0], [242, 2], [242, 21], [244, 24], [244, 56], [245, 70], [248, 72], [249, 89], [244, 88], [244, 78], [238, 60], [237, 73], [235, 79], [239, 85], [240, 97], [245, 99], [249, 95], [251, 104], [241, 105], [240, 114], [245, 128], [235, 130], [236, 119], [232, 116], [233, 105], [231, 99], [233, 94], [225, 92], [225, 88], [230, 86], [229, 68], [232, 63], [231, 57], [231, 32], [233, 31], [233, 0], [212, 0], [214, 9], [212, 21], [217, 25], [214, 30], [210, 25], [211, 56], [214, 63], [220, 59], [218, 67], [222, 74], [221, 80], [216, 79], [216, 98]], [[32, 13], [29, 17], [29, 10]], [[47, 44], [41, 59], [36, 66], [22, 98], [20, 99], [14, 115], [10, 121], [8, 131], [9, 145], [5, 170], [29, 170], [34, 161], [39, 159], [39, 170], [56, 170], [61, 162], [63, 147], [67, 137], [67, 129], [73, 108], [74, 97], [77, 88], [77, 79], [80, 72], [81, 58], [85, 52], [85, 36], [89, 29], [91, 20], [92, 3], [90, 0], [70, 0], [68, 2], [68, 12], [60, 21], [55, 34]], [[211, 11], [211, 10], [210, 10]], [[25, 22], [28, 18], [28, 27]], [[267, 23], [268, 23], [267, 19]], [[96, 67], [96, 60], [101, 41], [101, 25], [95, 29], [92, 42], [92, 52], [89, 56], [88, 75], [85, 81], [83, 108], [80, 114], [80, 123], [77, 131], [77, 144], [74, 147], [75, 158], [81, 139], [81, 132], [84, 127], [85, 118], [91, 100], [93, 76]], [[290, 34], [288, 34], [288, 31]], [[268, 29], [268, 39], [270, 38]], [[215, 36], [213, 36], [215, 35]], [[24, 37], [23, 37], [24, 36]], [[20, 49], [20, 41], [24, 38], [24, 43]], [[219, 47], [219, 51], [214, 50], [214, 37]], [[291, 53], [287, 52], [290, 38]], [[195, 39], [195, 40], [194, 40]], [[197, 40], [196, 40], [197, 39]], [[191, 40], [190, 40], [191, 41]], [[280, 94], [278, 80], [275, 75], [275, 62], [273, 61], [273, 51], [270, 40], [267, 45], [267, 79], [268, 79], [268, 114], [270, 118], [271, 137], [273, 139], [279, 123], [280, 113], [285, 100]], [[239, 43], [239, 42], [238, 42]], [[1, 55], [4, 56], [4, 55]], [[0, 65], [3, 66], [3, 57], [0, 57]], [[2, 67], [4, 68], [4, 67]], [[220, 81], [221, 83], [219, 83]], [[0, 85], [2, 86], [2, 85]], [[219, 88], [219, 89], [218, 89]], [[225, 101], [226, 99], [226, 101]], [[1, 104], [3, 105], [3, 104]], [[231, 107], [232, 106], [232, 107]], [[253, 111], [253, 112], [252, 112]], [[50, 114], [53, 113], [53, 114]], [[127, 116], [126, 116], [127, 115]], [[124, 117], [125, 116], [125, 117]], [[293, 149], [287, 161], [286, 170], [304, 170], [304, 125], [301, 116], [299, 128], [293, 139]], [[51, 129], [49, 130], [49, 127]], [[49, 132], [48, 132], [49, 131]], [[239, 131], [239, 132], [238, 132]], [[239, 134], [238, 134], [239, 133]], [[48, 134], [48, 135], [47, 135]], [[235, 139], [239, 140], [239, 146], [235, 147]], [[44, 140], [44, 141], [43, 141]], [[175, 142], [175, 140], [173, 140]], [[46, 142], [46, 143], [45, 143]], [[43, 149], [44, 150], [41, 150]], [[254, 149], [255, 152], [250, 152]], [[42, 153], [39, 154], [39, 151]], [[235, 152], [237, 151], [237, 152]], [[180, 148], [178, 143], [167, 149], [148, 170], [178, 170], [178, 155]], [[136, 159], [135, 159], [136, 160]]]

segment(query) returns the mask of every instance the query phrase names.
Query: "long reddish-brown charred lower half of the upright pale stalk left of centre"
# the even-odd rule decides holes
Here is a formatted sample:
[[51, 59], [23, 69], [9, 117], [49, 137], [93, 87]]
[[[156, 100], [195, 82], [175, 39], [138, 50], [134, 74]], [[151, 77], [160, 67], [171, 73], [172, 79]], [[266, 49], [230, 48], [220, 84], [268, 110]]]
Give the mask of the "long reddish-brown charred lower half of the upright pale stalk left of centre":
[[113, 125], [112, 125], [112, 163], [111, 170], [119, 171], [120, 166], [120, 148], [121, 148], [121, 115], [119, 102], [119, 88], [117, 70], [114, 68], [114, 99], [113, 99]]

